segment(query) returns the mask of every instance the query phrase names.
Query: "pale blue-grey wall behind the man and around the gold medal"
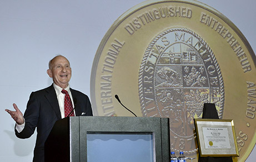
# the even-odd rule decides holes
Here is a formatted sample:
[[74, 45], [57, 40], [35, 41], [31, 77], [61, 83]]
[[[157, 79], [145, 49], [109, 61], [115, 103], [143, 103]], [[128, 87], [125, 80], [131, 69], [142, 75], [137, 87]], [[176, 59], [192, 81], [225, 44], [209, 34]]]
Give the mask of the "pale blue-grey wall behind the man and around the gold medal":
[[[256, 1], [200, 0], [228, 17], [256, 51]], [[17, 103], [24, 112], [32, 91], [51, 85], [49, 59], [62, 54], [71, 62], [71, 87], [89, 95], [97, 48], [114, 20], [142, 0], [0, 0], [0, 161], [32, 161], [36, 135], [14, 135], [4, 109]], [[252, 155], [253, 154], [253, 155]], [[254, 161], [254, 149], [247, 161]]]

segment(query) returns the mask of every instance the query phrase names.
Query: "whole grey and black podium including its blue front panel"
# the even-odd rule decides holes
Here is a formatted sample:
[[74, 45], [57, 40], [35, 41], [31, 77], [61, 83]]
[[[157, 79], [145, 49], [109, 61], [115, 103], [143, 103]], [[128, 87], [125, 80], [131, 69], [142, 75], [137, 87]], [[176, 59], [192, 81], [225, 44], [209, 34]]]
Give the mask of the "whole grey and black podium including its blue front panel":
[[[107, 147], [98, 152], [102, 150], [101, 142], [107, 142], [103, 144]], [[129, 147], [132, 149], [127, 150]], [[113, 152], [110, 161], [130, 161], [139, 156], [150, 159], [145, 161], [169, 161], [169, 118], [67, 117], [54, 124], [44, 145], [45, 161], [97, 161], [93, 158], [103, 154], [104, 161], [108, 161], [106, 155]]]

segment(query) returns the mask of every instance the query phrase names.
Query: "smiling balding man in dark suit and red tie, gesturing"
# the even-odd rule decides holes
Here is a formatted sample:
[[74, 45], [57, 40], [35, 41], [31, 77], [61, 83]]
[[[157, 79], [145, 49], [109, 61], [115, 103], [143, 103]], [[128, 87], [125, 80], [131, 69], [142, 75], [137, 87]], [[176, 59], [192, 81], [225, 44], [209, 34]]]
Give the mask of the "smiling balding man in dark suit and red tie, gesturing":
[[[37, 127], [33, 161], [44, 161], [44, 142], [57, 120], [67, 117], [70, 112], [72, 115], [72, 110], [75, 112], [75, 116], [93, 115], [88, 96], [69, 88], [68, 82], [71, 79], [71, 73], [69, 61], [64, 56], [56, 56], [49, 61], [47, 70], [47, 74], [53, 79], [53, 84], [43, 90], [31, 93], [24, 117], [15, 103], [13, 103], [15, 111], [6, 109], [16, 121], [15, 133], [18, 138], [31, 137]], [[68, 94], [63, 90], [66, 90]], [[66, 101], [67, 96], [69, 101]], [[69, 110], [66, 107], [67, 102], [70, 103]]]

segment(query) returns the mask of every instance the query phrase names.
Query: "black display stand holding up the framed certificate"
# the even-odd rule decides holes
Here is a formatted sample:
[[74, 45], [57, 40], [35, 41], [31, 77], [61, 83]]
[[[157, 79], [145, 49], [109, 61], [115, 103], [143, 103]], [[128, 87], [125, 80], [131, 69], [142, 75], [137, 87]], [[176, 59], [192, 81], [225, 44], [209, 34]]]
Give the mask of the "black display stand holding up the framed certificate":
[[[216, 107], [214, 103], [204, 103], [203, 119], [219, 119]], [[233, 162], [232, 157], [201, 157], [199, 154], [198, 162]]]

